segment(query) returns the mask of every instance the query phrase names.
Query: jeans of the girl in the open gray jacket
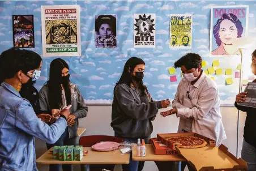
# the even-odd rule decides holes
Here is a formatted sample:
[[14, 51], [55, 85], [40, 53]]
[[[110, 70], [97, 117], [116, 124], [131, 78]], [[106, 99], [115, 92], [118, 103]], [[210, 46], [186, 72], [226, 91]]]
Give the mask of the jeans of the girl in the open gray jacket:
[[[59, 138], [56, 143], [46, 144], [46, 146], [48, 149], [54, 146], [76, 146], [76, 137], [69, 139], [69, 130], [68, 130], [68, 127], [66, 127], [65, 132], [61, 135], [61, 138]], [[61, 171], [61, 165], [59, 164], [49, 165], [49, 167], [50, 167], [49, 171]], [[62, 170], [72, 171], [73, 168], [72, 168], [72, 165], [65, 164], [65, 165], [62, 165]]]

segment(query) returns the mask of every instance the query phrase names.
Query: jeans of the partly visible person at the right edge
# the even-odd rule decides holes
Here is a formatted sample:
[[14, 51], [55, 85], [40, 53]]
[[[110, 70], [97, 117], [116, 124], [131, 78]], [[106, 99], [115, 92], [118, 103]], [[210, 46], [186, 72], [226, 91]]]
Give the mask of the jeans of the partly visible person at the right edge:
[[242, 143], [241, 158], [246, 161], [248, 171], [256, 170], [256, 148], [251, 146], [245, 140]]

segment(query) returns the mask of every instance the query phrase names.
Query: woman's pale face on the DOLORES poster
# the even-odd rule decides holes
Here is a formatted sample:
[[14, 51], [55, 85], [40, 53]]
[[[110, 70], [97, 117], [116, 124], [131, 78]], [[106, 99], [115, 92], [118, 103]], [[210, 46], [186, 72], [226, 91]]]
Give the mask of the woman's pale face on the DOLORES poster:
[[238, 30], [236, 28], [236, 25], [232, 23], [230, 20], [223, 20], [220, 23], [220, 40], [226, 45], [232, 44], [232, 38], [237, 38]]

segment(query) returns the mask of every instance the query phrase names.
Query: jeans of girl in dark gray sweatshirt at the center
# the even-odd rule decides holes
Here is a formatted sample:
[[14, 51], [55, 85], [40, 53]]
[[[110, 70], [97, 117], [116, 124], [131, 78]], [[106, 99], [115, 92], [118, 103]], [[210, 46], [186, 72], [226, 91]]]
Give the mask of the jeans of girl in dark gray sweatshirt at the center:
[[[118, 135], [116, 132], [114, 132], [114, 136], [123, 138], [124, 142], [135, 143], [135, 144], [138, 143], [137, 138], [124, 138]], [[147, 138], [140, 138], [140, 140], [142, 139], [144, 139], [145, 143], [148, 144], [148, 141], [150, 140], [150, 136], [148, 136]], [[141, 171], [143, 169], [145, 161], [133, 161], [132, 158], [133, 158], [133, 155], [130, 153], [130, 163], [122, 165], [123, 171]]]

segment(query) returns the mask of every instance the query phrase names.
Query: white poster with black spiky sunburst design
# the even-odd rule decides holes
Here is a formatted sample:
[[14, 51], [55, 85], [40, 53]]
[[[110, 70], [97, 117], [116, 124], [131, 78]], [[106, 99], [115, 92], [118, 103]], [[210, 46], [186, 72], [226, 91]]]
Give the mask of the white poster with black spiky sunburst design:
[[134, 48], [155, 48], [156, 14], [134, 14]]

